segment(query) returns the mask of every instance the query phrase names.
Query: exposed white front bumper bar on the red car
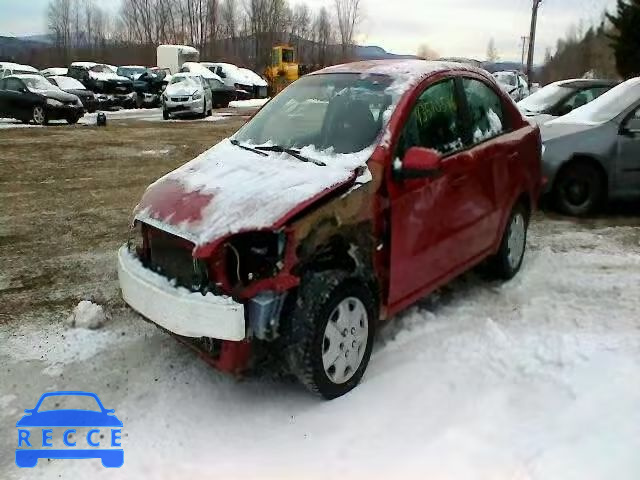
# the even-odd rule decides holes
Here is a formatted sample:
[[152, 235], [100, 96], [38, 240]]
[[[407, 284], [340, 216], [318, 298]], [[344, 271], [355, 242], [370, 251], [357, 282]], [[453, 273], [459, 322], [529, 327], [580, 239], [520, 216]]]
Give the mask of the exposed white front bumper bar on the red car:
[[172, 285], [145, 268], [126, 245], [118, 251], [118, 278], [124, 301], [153, 323], [185, 337], [240, 341], [245, 338], [244, 306], [231, 298], [203, 296]]

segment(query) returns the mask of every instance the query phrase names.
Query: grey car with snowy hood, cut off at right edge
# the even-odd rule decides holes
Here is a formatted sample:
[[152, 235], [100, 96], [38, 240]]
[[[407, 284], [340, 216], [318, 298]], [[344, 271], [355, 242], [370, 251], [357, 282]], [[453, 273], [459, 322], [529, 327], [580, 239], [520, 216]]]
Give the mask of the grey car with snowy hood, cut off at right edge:
[[640, 196], [640, 78], [547, 122], [542, 139], [544, 193], [561, 212]]

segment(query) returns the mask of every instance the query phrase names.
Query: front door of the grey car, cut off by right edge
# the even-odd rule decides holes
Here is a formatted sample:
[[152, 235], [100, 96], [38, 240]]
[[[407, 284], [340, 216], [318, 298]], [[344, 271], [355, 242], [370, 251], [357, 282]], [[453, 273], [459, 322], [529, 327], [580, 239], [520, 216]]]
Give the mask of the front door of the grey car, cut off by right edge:
[[640, 107], [623, 122], [615, 160], [618, 189], [640, 194]]

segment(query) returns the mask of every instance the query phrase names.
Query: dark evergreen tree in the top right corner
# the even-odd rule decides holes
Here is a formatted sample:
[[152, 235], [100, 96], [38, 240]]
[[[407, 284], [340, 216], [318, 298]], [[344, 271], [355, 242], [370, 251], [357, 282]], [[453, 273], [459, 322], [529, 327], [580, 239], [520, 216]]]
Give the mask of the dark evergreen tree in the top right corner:
[[607, 18], [614, 27], [609, 38], [618, 73], [625, 79], [640, 76], [640, 0], [618, 0], [616, 14]]

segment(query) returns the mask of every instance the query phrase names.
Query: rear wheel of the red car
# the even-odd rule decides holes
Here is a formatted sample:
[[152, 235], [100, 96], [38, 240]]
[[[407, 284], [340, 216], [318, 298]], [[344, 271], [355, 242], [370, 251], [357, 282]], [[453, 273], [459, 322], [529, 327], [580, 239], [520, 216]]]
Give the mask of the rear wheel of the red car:
[[489, 262], [493, 276], [511, 280], [520, 271], [527, 249], [528, 228], [529, 211], [522, 203], [518, 203], [511, 210], [498, 253]]

